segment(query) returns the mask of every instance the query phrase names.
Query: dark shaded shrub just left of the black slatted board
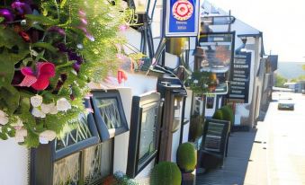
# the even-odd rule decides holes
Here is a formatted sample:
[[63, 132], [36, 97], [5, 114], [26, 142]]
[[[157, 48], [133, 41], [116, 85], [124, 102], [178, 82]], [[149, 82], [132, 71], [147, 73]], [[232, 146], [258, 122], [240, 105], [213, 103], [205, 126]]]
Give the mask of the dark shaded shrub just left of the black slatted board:
[[201, 115], [193, 115], [190, 120], [189, 141], [194, 142], [198, 137], [202, 136], [203, 119]]

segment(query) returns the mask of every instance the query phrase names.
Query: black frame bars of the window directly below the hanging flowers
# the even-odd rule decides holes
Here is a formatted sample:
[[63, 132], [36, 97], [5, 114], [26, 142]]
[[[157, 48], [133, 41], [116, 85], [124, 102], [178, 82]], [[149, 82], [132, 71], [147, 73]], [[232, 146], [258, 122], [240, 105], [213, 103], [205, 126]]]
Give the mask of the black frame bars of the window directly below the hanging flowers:
[[79, 141], [73, 145], [67, 145], [67, 147], [61, 148], [58, 151], [56, 150], [55, 140], [49, 142], [47, 145], [39, 145], [37, 148], [31, 148], [31, 185], [53, 184], [55, 163], [73, 154], [79, 154], [79, 181], [80, 184], [83, 183], [84, 177], [82, 176], [82, 168], [84, 166], [84, 150], [100, 143], [100, 137], [98, 136], [97, 128], [95, 127], [93, 114], [88, 113], [86, 116], [87, 125], [92, 137]]

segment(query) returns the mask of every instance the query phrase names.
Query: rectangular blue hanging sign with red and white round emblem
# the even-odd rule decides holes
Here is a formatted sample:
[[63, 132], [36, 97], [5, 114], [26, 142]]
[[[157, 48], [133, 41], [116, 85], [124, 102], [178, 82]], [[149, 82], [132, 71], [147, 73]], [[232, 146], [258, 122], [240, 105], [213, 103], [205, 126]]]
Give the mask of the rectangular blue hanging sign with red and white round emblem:
[[200, 0], [167, 0], [166, 37], [198, 35]]

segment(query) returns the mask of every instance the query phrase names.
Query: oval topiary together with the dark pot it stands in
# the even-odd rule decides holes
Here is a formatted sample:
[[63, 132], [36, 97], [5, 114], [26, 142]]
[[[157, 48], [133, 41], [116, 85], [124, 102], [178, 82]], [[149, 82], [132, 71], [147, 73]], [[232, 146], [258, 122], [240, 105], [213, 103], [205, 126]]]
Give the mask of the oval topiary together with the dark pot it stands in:
[[195, 178], [193, 171], [197, 164], [197, 151], [193, 143], [179, 145], [177, 151], [177, 164], [182, 172], [182, 184], [193, 184]]

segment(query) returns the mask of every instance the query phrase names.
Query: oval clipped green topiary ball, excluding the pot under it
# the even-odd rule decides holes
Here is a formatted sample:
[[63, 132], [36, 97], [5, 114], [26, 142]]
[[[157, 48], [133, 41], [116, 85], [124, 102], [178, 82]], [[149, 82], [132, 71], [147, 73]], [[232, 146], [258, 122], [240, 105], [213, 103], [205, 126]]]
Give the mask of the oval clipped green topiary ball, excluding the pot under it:
[[197, 163], [197, 151], [192, 143], [179, 145], [177, 164], [181, 172], [193, 172]]

